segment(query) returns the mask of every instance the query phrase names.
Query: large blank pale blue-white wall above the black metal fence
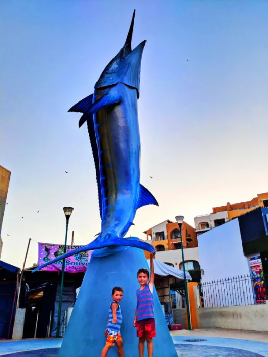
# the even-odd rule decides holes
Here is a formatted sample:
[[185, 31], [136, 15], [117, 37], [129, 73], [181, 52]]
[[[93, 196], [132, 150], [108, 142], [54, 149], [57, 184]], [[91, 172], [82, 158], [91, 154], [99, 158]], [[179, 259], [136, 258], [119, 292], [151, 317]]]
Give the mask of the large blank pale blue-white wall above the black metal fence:
[[198, 250], [202, 282], [249, 274], [238, 218], [198, 236]]

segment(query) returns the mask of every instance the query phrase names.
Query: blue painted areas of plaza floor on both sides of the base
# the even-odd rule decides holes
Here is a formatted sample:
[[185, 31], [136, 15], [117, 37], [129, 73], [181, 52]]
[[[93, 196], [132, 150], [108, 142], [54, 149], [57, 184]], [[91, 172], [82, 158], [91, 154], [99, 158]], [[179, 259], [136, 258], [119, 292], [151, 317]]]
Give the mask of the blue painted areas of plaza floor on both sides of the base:
[[[206, 341], [185, 341], [199, 338]], [[57, 339], [1, 342], [0, 356], [57, 357], [61, 342]], [[179, 357], [268, 357], [268, 343], [264, 342], [196, 336], [173, 336], [173, 342]]]

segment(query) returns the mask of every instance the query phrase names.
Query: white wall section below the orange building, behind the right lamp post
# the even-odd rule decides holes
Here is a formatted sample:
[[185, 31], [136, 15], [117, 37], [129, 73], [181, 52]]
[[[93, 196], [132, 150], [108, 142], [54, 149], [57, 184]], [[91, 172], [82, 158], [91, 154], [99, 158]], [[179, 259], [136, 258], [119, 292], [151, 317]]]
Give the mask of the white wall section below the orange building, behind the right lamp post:
[[[196, 260], [199, 262], [198, 248], [187, 248], [183, 249], [184, 260]], [[155, 258], [162, 263], [172, 263], [175, 268], [179, 269], [180, 263], [182, 262], [181, 249], [158, 251], [156, 252]]]

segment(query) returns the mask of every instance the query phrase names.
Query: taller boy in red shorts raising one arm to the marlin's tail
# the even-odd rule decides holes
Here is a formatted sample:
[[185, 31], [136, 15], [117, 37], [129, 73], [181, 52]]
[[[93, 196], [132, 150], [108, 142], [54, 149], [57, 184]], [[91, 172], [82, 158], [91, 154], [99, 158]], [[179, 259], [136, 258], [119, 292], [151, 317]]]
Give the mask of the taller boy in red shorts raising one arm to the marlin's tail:
[[137, 290], [137, 308], [133, 326], [137, 327], [137, 337], [139, 338], [139, 357], [144, 357], [145, 341], [147, 342], [148, 357], [153, 357], [153, 337], [156, 336], [153, 297], [155, 280], [153, 261], [154, 255], [155, 252], [150, 253], [150, 280], [149, 271], [147, 269], [141, 268], [138, 271], [138, 282], [140, 283], [140, 287]]

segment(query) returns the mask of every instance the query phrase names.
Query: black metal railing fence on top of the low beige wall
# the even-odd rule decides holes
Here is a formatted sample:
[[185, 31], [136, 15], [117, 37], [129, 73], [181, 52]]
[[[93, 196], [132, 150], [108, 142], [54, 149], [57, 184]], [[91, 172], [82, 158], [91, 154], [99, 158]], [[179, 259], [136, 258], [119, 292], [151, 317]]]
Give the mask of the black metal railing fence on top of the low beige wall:
[[265, 288], [261, 282], [255, 282], [250, 275], [201, 283], [200, 288], [205, 308], [254, 305], [256, 302], [266, 302]]

